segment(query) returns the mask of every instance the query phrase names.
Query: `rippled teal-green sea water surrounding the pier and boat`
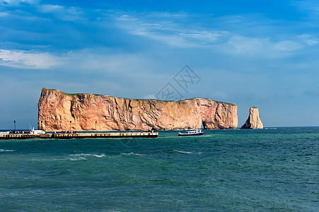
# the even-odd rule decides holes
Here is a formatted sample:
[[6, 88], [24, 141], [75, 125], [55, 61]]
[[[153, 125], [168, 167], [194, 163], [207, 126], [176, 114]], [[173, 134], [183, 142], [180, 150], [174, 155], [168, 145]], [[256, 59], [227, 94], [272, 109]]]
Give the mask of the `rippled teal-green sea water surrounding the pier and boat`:
[[319, 211], [319, 127], [0, 140], [0, 211]]

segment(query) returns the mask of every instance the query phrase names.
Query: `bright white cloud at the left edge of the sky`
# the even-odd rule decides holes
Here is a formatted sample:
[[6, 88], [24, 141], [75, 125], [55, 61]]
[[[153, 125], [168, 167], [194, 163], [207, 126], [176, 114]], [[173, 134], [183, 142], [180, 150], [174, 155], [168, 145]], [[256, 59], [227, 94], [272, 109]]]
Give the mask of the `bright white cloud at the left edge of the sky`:
[[50, 69], [61, 64], [58, 57], [48, 53], [0, 49], [0, 65], [18, 69]]

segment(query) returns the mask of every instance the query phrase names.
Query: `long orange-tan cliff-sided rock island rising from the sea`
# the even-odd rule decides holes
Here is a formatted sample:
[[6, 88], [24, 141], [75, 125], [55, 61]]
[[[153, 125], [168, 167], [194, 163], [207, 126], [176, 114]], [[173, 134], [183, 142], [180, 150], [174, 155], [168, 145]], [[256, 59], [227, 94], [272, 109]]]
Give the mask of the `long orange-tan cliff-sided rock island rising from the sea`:
[[238, 125], [237, 105], [204, 98], [135, 100], [42, 88], [38, 107], [38, 128], [47, 131], [199, 129], [202, 124], [204, 129], [232, 129]]

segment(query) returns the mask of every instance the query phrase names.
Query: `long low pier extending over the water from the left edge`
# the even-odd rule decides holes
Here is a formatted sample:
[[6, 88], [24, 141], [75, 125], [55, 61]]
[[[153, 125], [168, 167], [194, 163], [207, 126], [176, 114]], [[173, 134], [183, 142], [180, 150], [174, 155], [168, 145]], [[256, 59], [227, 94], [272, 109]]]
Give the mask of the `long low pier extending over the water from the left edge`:
[[8, 139], [124, 139], [157, 138], [158, 132], [112, 132], [112, 133], [76, 133], [76, 134], [0, 134], [1, 140]]

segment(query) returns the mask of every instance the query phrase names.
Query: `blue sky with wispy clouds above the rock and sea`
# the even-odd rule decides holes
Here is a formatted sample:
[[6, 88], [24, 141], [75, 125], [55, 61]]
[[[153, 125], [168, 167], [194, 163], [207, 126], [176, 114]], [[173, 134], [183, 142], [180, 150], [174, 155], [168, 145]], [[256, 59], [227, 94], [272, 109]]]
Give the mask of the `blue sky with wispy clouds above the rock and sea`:
[[319, 126], [318, 20], [312, 0], [0, 0], [0, 129], [37, 127], [43, 87], [168, 91], [238, 105], [238, 127], [253, 106], [266, 127]]

